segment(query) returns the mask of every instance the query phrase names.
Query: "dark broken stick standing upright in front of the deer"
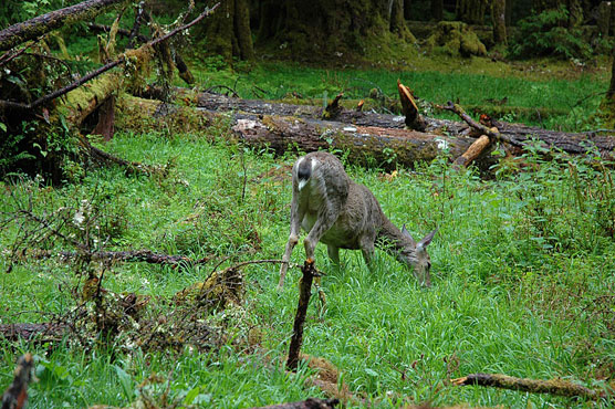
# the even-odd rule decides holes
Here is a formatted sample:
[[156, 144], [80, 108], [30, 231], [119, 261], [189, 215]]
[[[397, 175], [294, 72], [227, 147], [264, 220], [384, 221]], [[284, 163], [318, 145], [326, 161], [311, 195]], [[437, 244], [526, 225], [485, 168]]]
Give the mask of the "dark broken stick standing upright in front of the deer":
[[312, 282], [316, 272], [314, 261], [306, 260], [303, 268], [301, 268], [301, 272], [303, 276], [299, 282], [299, 304], [292, 327], [289, 360], [286, 361], [289, 370], [296, 370], [299, 366], [299, 355], [301, 353], [301, 344], [303, 343], [303, 325], [305, 324], [305, 314], [308, 313], [308, 305], [310, 305], [310, 297], [312, 296]]

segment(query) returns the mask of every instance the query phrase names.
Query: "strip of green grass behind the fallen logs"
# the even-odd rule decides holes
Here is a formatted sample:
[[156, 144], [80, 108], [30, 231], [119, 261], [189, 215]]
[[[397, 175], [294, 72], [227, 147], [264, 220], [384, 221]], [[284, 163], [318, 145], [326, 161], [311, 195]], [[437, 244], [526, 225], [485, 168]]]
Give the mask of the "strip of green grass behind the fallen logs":
[[[503, 105], [509, 107], [508, 112], [497, 114], [496, 119], [563, 130], [600, 128], [598, 123], [587, 122], [587, 118], [596, 112], [608, 88], [604, 69], [573, 72], [572, 75], [569, 70], [567, 74], [557, 75], [561, 63], [533, 64], [542, 69], [532, 63], [515, 66], [488, 59], [454, 60], [447, 65], [434, 66], [434, 60], [426, 57], [413, 70], [321, 69], [265, 62], [251, 67], [239, 64], [238, 70], [231, 71], [216, 59], [194, 61], [190, 66], [201, 90], [226, 85], [243, 98], [284, 99], [294, 98], [293, 93], [296, 93], [306, 102], [321, 105], [340, 92], [351, 99], [369, 98], [371, 90], [376, 88], [398, 99], [397, 80], [400, 80], [426, 102], [446, 105], [448, 101], [458, 101], [462, 106], [479, 107], [481, 113], [501, 112], [498, 109], [502, 106], [494, 106], [493, 101], [508, 98]], [[179, 80], [176, 84], [183, 85]], [[536, 114], [536, 109], [554, 114], [545, 117], [545, 114]], [[427, 108], [425, 114], [454, 118], [432, 108]]]

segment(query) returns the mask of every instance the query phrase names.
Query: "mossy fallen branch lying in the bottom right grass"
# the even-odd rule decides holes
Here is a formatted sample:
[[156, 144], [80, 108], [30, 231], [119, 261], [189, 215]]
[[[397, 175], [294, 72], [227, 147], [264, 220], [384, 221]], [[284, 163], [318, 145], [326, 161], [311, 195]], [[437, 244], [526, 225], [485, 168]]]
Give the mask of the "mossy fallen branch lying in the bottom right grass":
[[[462, 378], [451, 379], [452, 385], [489, 386], [493, 388], [520, 390], [531, 394], [551, 394], [567, 397], [581, 397], [591, 400], [608, 398], [606, 391], [594, 390], [565, 379], [527, 379], [501, 374], [471, 374]], [[612, 399], [613, 397], [611, 397]]]

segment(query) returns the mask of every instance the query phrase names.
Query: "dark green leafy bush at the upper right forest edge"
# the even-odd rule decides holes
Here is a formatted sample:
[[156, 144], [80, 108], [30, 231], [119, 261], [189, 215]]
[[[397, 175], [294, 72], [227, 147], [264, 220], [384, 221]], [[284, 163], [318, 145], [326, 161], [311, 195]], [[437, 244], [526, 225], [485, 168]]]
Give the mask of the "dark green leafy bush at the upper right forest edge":
[[569, 27], [569, 11], [564, 6], [549, 9], [519, 21], [519, 33], [510, 44], [513, 57], [552, 55], [560, 59], [587, 60], [592, 48], [578, 27]]

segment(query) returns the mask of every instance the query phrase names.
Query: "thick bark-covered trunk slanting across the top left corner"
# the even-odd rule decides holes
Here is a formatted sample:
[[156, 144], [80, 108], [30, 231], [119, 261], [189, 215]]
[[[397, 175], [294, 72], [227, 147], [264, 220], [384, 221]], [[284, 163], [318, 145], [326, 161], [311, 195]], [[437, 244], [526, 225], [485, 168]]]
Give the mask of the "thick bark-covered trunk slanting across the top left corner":
[[11, 25], [0, 31], [0, 51], [10, 50], [15, 45], [28, 40], [34, 40], [63, 25], [86, 19], [94, 20], [94, 17], [110, 6], [122, 4], [126, 0], [87, 0]]

